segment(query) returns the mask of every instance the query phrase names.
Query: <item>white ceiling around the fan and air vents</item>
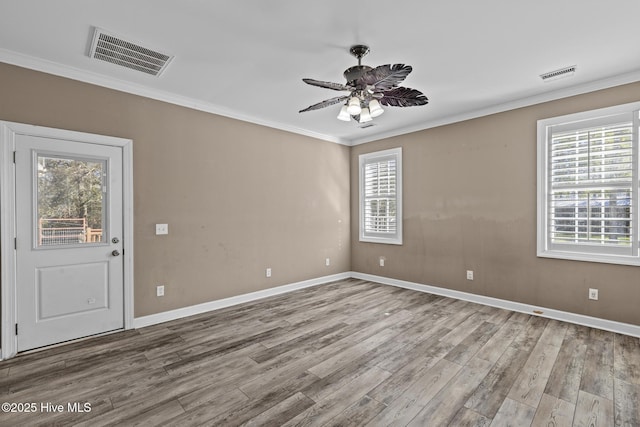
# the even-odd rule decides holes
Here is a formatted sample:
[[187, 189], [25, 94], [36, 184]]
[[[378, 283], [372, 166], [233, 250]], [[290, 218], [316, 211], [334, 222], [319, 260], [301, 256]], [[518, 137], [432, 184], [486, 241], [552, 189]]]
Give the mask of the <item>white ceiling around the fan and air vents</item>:
[[[304, 135], [356, 144], [640, 80], [638, 0], [2, 0], [0, 62]], [[175, 55], [160, 77], [88, 57], [93, 27]], [[375, 126], [336, 120], [363, 63], [404, 63], [429, 104], [386, 108]], [[539, 75], [577, 65], [573, 77]]]

